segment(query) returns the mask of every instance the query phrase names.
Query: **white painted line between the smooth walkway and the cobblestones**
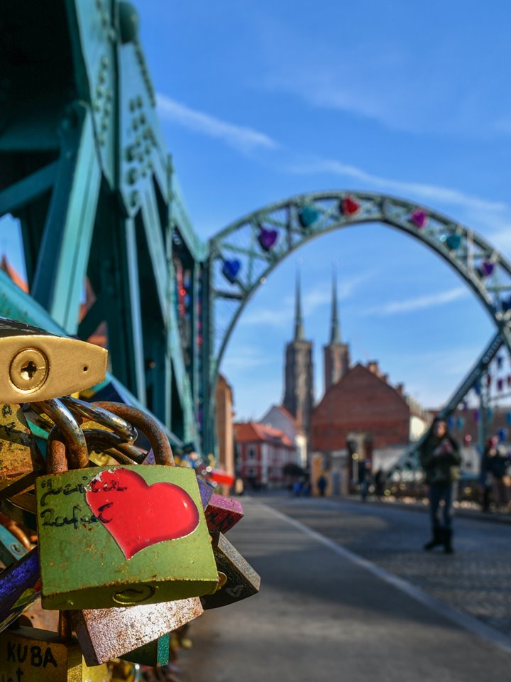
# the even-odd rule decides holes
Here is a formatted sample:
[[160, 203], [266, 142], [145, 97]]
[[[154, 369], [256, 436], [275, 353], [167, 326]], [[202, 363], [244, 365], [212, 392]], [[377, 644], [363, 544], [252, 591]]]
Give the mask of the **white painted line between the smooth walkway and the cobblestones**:
[[481, 639], [485, 639], [486, 642], [490, 642], [490, 644], [497, 646], [498, 649], [505, 651], [507, 654], [511, 654], [511, 640], [509, 637], [506, 637], [505, 634], [502, 634], [502, 632], [498, 632], [498, 630], [485, 625], [478, 619], [444, 604], [444, 602], [441, 602], [435, 597], [428, 595], [420, 588], [415, 587], [415, 585], [412, 585], [412, 583], [408, 583], [407, 580], [397, 578], [397, 575], [389, 573], [388, 570], [385, 570], [385, 568], [380, 568], [380, 566], [376, 565], [372, 561], [368, 561], [368, 559], [363, 558], [363, 556], [360, 556], [349, 549], [338, 545], [321, 533], [313, 531], [308, 526], [304, 526], [304, 524], [300, 523], [300, 521], [292, 519], [291, 516], [286, 516], [286, 514], [282, 514], [282, 512], [273, 509], [273, 507], [269, 507], [268, 504], [264, 504], [263, 502], [258, 502], [257, 504], [260, 504], [260, 507], [264, 507], [270, 512], [270, 514], [273, 514], [273, 516], [276, 516], [278, 519], [285, 521], [291, 526], [295, 526], [297, 530], [302, 531], [302, 533], [308, 535], [311, 538], [314, 538], [314, 540], [321, 543], [325, 547], [328, 547], [336, 554], [339, 554], [339, 556], [351, 561], [352, 563], [355, 563], [358, 566], [361, 566], [361, 568], [365, 568], [370, 573], [373, 573], [373, 575], [375, 575], [377, 578], [380, 578], [380, 580], [384, 580], [385, 583], [389, 583], [397, 590], [405, 592], [405, 594], [407, 594], [409, 597], [412, 597], [412, 599], [416, 600], [417, 602], [420, 602], [424, 606], [436, 611], [444, 618], [447, 618], [451, 622], [456, 623], [456, 625], [463, 627], [464, 629], [468, 630], [468, 632], [476, 634]]

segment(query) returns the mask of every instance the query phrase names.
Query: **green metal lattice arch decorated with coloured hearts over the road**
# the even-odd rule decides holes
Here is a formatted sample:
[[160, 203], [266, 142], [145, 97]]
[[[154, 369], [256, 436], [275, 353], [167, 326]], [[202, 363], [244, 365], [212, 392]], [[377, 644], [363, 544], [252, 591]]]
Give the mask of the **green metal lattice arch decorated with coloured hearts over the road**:
[[[511, 264], [480, 234], [396, 197], [342, 190], [297, 195], [246, 215], [209, 241], [211, 410], [229, 338], [260, 284], [280, 261], [314, 237], [366, 222], [400, 229], [439, 254], [471, 288], [495, 325], [495, 336], [442, 409], [443, 416], [456, 409], [502, 344], [511, 352]], [[400, 466], [414, 460], [418, 445], [410, 448]]]

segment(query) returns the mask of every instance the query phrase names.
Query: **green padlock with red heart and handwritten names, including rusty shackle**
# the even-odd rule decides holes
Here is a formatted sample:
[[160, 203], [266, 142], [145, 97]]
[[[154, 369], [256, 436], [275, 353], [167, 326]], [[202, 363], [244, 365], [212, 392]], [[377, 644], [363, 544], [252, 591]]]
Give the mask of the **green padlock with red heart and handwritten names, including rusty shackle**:
[[145, 432], [159, 464], [65, 472], [65, 444], [52, 430], [50, 475], [35, 484], [43, 607], [106, 609], [215, 590], [218, 575], [194, 471], [172, 466], [167, 436], [155, 419], [123, 404], [99, 406]]

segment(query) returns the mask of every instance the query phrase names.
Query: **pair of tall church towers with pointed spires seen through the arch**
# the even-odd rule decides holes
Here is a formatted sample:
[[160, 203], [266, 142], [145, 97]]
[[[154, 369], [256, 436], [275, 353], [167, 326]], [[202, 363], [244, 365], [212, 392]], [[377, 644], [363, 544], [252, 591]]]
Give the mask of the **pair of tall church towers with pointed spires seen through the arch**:
[[[331, 296], [331, 329], [329, 344], [323, 347], [325, 393], [340, 381], [350, 367], [349, 347], [341, 342], [337, 314], [337, 281], [334, 272]], [[314, 409], [314, 363], [312, 341], [304, 336], [300, 277], [296, 281], [295, 337], [285, 353], [284, 400], [282, 405], [295, 417], [297, 426], [307, 437], [310, 449], [311, 415]]]

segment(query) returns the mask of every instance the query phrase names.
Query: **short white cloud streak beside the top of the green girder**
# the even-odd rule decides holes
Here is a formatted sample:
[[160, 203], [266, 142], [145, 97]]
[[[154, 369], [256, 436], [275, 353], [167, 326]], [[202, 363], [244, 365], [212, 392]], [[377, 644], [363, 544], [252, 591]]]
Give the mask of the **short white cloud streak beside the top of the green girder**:
[[177, 123], [189, 130], [214, 137], [239, 151], [251, 151], [254, 148], [273, 149], [278, 146], [275, 140], [247, 126], [237, 126], [209, 114], [190, 109], [185, 104], [170, 99], [165, 94], [157, 94], [158, 112], [160, 116], [172, 123]]

